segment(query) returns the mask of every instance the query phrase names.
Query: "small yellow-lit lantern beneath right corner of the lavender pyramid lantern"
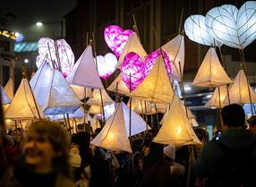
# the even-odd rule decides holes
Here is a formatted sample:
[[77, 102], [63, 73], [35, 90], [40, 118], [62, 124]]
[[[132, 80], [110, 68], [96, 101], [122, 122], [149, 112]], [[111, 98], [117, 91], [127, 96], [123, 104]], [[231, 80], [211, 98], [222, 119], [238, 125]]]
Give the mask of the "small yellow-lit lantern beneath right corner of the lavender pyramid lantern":
[[[107, 92], [105, 89], [101, 89], [101, 94], [102, 94], [102, 101], [103, 101], [103, 106], [110, 105], [112, 103], [115, 103], [112, 98], [110, 98], [107, 95]], [[92, 98], [89, 98], [89, 100], [86, 102], [87, 105], [96, 105], [96, 106], [101, 106], [101, 98], [100, 98], [100, 91], [99, 89], [93, 89], [92, 92]]]

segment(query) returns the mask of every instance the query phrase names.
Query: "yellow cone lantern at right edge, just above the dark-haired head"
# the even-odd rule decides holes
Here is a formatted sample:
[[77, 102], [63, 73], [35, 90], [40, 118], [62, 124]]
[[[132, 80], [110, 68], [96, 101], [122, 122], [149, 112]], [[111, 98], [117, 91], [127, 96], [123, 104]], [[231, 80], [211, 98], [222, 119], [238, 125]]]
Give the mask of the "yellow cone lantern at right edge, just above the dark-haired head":
[[[240, 70], [235, 77], [234, 84], [229, 90], [230, 104], [237, 103], [243, 105], [245, 103], [251, 103], [247, 82], [248, 81], [243, 70]], [[256, 95], [253, 92], [252, 87], [249, 86], [249, 89], [252, 98], [252, 103], [256, 103]], [[228, 105], [227, 97], [225, 98], [224, 104]]]

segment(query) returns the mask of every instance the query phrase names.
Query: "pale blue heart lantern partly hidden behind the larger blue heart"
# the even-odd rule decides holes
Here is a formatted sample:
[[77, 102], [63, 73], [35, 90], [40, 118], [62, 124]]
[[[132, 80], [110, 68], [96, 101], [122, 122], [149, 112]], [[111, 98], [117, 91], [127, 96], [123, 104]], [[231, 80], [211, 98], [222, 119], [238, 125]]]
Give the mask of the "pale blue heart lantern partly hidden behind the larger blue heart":
[[220, 47], [221, 43], [215, 40], [205, 26], [205, 17], [191, 15], [184, 22], [184, 30], [188, 38], [199, 44], [209, 47]]

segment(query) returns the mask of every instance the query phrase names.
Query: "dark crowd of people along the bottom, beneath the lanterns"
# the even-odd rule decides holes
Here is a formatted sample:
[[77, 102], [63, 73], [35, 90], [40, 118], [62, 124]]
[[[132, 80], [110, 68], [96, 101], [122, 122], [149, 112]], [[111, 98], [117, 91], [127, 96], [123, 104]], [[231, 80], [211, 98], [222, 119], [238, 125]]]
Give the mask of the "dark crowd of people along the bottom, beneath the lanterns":
[[132, 137], [132, 154], [90, 144], [100, 129], [87, 131], [89, 123], [71, 135], [60, 123], [37, 121], [2, 137], [0, 186], [255, 187], [255, 116], [246, 126], [243, 107], [232, 104], [222, 120], [218, 139], [198, 127], [201, 145], [175, 148], [153, 142], [153, 129]]

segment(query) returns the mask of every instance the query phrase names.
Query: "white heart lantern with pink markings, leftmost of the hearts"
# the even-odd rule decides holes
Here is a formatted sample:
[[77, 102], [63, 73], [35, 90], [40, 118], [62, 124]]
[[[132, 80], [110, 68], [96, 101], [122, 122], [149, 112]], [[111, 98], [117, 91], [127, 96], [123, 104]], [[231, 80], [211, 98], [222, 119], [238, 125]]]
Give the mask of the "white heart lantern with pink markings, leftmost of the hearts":
[[[63, 72], [64, 77], [66, 77], [72, 71], [74, 55], [72, 48], [66, 43], [64, 39], [58, 39], [55, 41], [51, 38], [40, 38], [38, 40], [38, 53], [38, 68], [40, 64], [45, 63], [46, 61], [52, 62], [52, 60], [55, 64], [55, 67], [58, 67], [57, 59], [59, 57], [61, 71]], [[58, 55], [56, 55], [56, 53], [58, 53]]]

